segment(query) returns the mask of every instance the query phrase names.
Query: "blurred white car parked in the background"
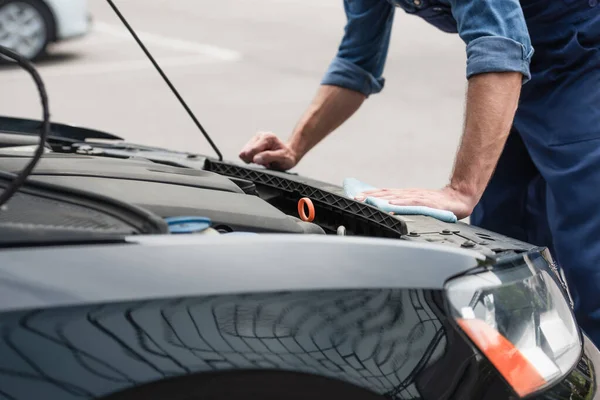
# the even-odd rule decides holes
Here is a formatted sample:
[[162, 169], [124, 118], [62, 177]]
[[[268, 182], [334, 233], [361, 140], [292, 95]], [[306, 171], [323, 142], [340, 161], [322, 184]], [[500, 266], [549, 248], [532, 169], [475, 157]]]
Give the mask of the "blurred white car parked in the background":
[[0, 0], [0, 45], [35, 60], [90, 30], [88, 0]]

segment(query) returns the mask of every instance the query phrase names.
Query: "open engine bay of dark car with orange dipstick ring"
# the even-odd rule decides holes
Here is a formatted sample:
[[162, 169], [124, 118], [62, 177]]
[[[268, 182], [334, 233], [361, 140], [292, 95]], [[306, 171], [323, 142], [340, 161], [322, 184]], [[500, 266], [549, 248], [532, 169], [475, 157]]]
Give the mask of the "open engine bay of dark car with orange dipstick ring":
[[[31, 150], [27, 146], [31, 147], [31, 143], [27, 140], [15, 142], [14, 135], [3, 142], [3, 135], [0, 133], [0, 171], [14, 174], [28, 162]], [[348, 199], [339, 186], [291, 173], [127, 144], [116, 137], [103, 137], [109, 143], [85, 139], [51, 138], [46, 153], [28, 179], [29, 185], [41, 185], [35, 190], [41, 188], [42, 192], [52, 190], [61, 195], [75, 195], [76, 200], [71, 198], [66, 203], [79, 202], [78, 206], [84, 208], [91, 203], [112, 202], [114, 207], [120, 207], [121, 214], [124, 207], [129, 207], [128, 213], [138, 216], [145, 213], [143, 218], [151, 216], [154, 225], [166, 225], [150, 231], [131, 226], [120, 227], [115, 232], [102, 231], [101, 227], [117, 225], [98, 224], [99, 219], [106, 217], [91, 217], [97, 207], [78, 211], [78, 215], [85, 215], [87, 219], [72, 223], [69, 215], [58, 219], [49, 217], [58, 215], [58, 211], [52, 210], [62, 210], [64, 205], [55, 202], [45, 206], [43, 212], [38, 199], [22, 202], [29, 206], [21, 204], [19, 212], [8, 213], [8, 216], [4, 213], [0, 218], [0, 230], [14, 231], [20, 226], [24, 230], [16, 237], [23, 238], [35, 232], [34, 237], [43, 234], [47, 240], [61, 230], [70, 232], [68, 237], [81, 237], [82, 227], [87, 233], [100, 229], [109, 236], [124, 234], [127, 229], [131, 229], [129, 234], [194, 232], [193, 223], [204, 221], [206, 227], [217, 234], [383, 237], [475, 249], [488, 256], [534, 247], [464, 223], [448, 224], [424, 216], [389, 215]], [[113, 139], [115, 141], [110, 143]], [[30, 194], [40, 195], [38, 192]], [[299, 207], [302, 201], [309, 202], [313, 208], [312, 218], [307, 218], [308, 212], [303, 212], [305, 204]], [[183, 225], [190, 229], [182, 229], [182, 221], [187, 221]], [[143, 222], [137, 223], [137, 226], [143, 225]]]

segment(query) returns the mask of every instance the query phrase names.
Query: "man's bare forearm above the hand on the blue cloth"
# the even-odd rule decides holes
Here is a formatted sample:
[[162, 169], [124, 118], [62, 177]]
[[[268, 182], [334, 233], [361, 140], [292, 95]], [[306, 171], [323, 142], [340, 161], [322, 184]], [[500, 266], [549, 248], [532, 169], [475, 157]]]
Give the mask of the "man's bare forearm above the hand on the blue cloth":
[[521, 92], [520, 73], [487, 73], [469, 80], [464, 135], [450, 187], [475, 207], [508, 138]]

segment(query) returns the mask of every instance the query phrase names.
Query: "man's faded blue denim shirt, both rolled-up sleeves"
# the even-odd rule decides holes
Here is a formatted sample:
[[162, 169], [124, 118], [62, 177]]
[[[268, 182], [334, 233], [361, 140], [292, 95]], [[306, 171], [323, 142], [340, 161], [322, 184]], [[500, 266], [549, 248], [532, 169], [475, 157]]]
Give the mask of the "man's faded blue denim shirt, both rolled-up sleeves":
[[366, 96], [383, 89], [396, 7], [459, 34], [466, 44], [467, 79], [504, 71], [522, 73], [523, 83], [531, 78], [533, 47], [519, 0], [344, 0], [344, 36], [322, 84]]

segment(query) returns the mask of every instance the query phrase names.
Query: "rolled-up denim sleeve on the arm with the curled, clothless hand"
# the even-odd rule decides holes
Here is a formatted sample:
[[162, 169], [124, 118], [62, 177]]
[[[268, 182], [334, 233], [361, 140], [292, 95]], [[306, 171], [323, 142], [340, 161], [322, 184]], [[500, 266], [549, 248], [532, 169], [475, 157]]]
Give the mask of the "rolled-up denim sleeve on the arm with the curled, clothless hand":
[[394, 6], [386, 0], [344, 0], [346, 26], [321, 84], [379, 93], [389, 49]]

